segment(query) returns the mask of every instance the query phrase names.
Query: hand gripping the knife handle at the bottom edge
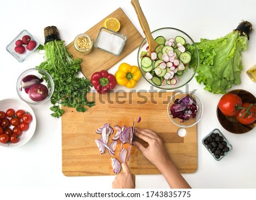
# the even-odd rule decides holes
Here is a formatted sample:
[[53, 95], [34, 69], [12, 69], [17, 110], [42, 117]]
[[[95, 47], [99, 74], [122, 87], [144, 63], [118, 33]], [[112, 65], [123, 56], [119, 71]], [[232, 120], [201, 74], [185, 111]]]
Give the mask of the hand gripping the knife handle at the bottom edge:
[[133, 189], [135, 188], [135, 175], [130, 172], [126, 163], [122, 163], [123, 172], [115, 177], [112, 188]]

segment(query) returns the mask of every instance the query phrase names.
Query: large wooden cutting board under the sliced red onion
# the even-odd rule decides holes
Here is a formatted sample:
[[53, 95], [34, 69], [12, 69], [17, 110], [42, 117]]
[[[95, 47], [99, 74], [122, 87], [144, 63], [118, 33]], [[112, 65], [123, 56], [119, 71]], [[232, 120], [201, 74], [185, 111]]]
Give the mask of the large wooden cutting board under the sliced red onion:
[[[167, 104], [172, 93], [89, 93], [96, 105], [85, 113], [73, 108], [63, 107], [62, 116], [62, 169], [65, 176], [103, 176], [113, 175], [111, 157], [119, 160], [118, 141], [114, 156], [106, 149], [101, 155], [94, 140], [101, 135], [95, 130], [106, 122], [114, 125], [132, 126], [134, 118], [141, 116], [135, 127], [148, 128], [159, 134], [164, 140], [168, 154], [180, 173], [194, 173], [197, 170], [197, 127], [186, 128], [187, 135], [177, 135], [177, 127], [167, 114]], [[114, 128], [115, 130], [115, 128]], [[116, 130], [115, 130], [116, 132]], [[110, 136], [110, 138], [112, 138]], [[109, 144], [111, 143], [109, 140]], [[129, 144], [124, 144], [127, 148]], [[137, 147], [131, 147], [129, 167], [134, 174], [159, 174]]]

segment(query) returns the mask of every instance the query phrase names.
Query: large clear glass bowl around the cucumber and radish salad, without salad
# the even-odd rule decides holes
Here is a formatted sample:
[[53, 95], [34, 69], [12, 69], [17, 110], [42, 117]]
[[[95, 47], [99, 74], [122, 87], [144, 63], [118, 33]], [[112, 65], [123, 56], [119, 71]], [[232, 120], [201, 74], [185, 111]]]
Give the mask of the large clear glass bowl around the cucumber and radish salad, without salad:
[[[146, 40], [146, 38], [144, 38], [141, 45], [139, 46], [138, 58], [137, 58], [139, 69], [141, 70], [142, 76], [151, 85], [154, 85], [155, 87], [158, 87], [160, 89], [172, 90], [172, 89], [177, 89], [179, 87], [182, 87], [185, 84], [188, 84], [188, 82], [191, 81], [192, 78], [195, 76], [196, 70], [197, 70], [197, 67], [198, 67], [198, 64], [199, 64], [199, 52], [198, 52], [197, 47], [196, 47], [194, 41], [192, 40], [192, 38], [188, 34], [186, 34], [185, 32], [183, 32], [183, 31], [181, 31], [177, 28], [168, 28], [168, 27], [167, 28], [159, 28], [158, 30], [153, 31], [151, 34], [152, 34], [154, 39], [156, 39], [159, 36], [163, 36], [166, 40], [175, 39], [176, 36], [181, 36], [183, 39], [185, 39], [186, 44], [191, 44], [191, 45], [193, 45], [193, 47], [195, 47], [195, 55], [191, 56], [192, 60], [189, 63], [191, 63], [193, 61], [193, 64], [195, 64], [196, 67], [195, 67], [195, 69], [193, 69], [192, 67], [189, 68], [188, 66], [185, 66], [185, 70], [182, 70], [182, 72], [180, 70], [179, 73], [177, 73], [177, 71], [174, 70], [174, 72], [176, 72], [175, 76], [174, 76], [174, 78], [176, 79], [176, 84], [174, 84], [174, 82], [170, 81], [171, 78], [168, 78], [167, 81], [166, 81], [167, 83], [166, 83], [164, 81], [165, 78], [163, 78], [163, 77], [160, 78], [160, 81], [162, 81], [162, 84], [160, 84], [160, 85], [155, 84], [155, 81], [154, 80], [153, 80], [154, 82], [152, 81], [152, 77], [147, 72], [150, 72], [151, 74], [152, 74], [152, 72], [154, 73], [155, 66], [156, 66], [155, 64], [157, 62], [159, 62], [157, 60], [160, 60], [160, 59], [159, 59], [159, 57], [157, 57], [157, 60], [154, 62], [154, 66], [152, 66], [151, 70], [150, 70], [150, 68], [147, 68], [146, 69], [147, 72], [145, 72], [145, 69], [144, 70], [142, 69], [141, 56], [142, 55], [144, 56], [144, 53], [147, 52], [147, 49], [148, 49], [147, 40]], [[185, 45], [184, 45], [184, 47], [185, 47]], [[176, 48], [176, 47], [174, 47], [174, 48]], [[176, 49], [175, 49], [175, 51], [176, 51]], [[178, 55], [178, 53], [176, 53], [176, 55]], [[179, 59], [179, 56], [175, 56], [175, 58]], [[188, 65], [189, 65], [189, 63], [188, 63]], [[187, 64], [184, 64], [184, 65], [187, 65]], [[177, 69], [181, 69], [181, 68], [177, 68]], [[146, 76], [146, 73], [147, 73], [147, 76]], [[148, 75], [150, 77], [148, 77]]]

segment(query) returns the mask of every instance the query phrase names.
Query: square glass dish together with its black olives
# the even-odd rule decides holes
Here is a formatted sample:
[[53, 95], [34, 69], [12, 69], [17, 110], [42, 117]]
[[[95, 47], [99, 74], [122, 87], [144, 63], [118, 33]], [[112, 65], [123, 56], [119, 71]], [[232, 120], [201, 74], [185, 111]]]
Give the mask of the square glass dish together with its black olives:
[[202, 143], [217, 161], [223, 159], [233, 149], [229, 141], [217, 128], [205, 136]]

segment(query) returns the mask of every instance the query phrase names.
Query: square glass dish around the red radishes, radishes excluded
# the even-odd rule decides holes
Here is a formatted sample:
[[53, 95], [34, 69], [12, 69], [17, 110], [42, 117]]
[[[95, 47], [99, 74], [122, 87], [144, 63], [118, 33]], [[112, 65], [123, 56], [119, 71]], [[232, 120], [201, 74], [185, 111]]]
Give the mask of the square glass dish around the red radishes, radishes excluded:
[[[23, 44], [25, 47], [25, 52], [22, 54], [16, 53], [14, 48], [16, 47], [16, 40], [22, 40], [22, 37], [24, 35], [29, 35], [31, 40], [34, 40], [36, 42], [36, 47], [32, 51], [28, 51], [26, 48], [26, 45]], [[16, 60], [19, 62], [23, 62], [24, 60], [27, 59], [28, 56], [31, 55], [32, 52], [34, 52], [39, 46], [39, 42], [28, 32], [27, 30], [22, 30], [7, 46], [6, 46], [6, 51], [9, 52], [13, 57], [15, 57]]]

